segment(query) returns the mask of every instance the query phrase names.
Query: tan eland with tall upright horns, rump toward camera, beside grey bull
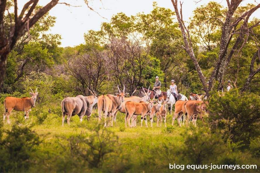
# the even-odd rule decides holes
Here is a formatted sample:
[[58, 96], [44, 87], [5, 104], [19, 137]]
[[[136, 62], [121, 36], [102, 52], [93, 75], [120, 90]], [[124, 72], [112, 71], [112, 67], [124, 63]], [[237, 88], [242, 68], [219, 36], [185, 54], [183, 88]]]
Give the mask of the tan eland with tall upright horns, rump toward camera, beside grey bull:
[[[117, 85], [117, 89], [119, 93], [116, 93], [116, 95], [108, 94], [100, 98], [99, 104], [98, 104], [98, 124], [100, 123], [100, 120], [102, 118], [102, 111], [104, 113], [104, 116], [108, 116], [111, 119], [111, 127], [113, 126], [113, 119], [115, 116], [115, 113], [118, 111], [118, 109], [121, 108], [122, 103], [124, 102], [124, 96], [128, 95], [129, 93], [125, 93], [125, 86], [124, 89], [119, 89], [119, 85]], [[108, 99], [107, 99], [108, 97]], [[109, 104], [109, 106], [107, 105]], [[110, 109], [110, 104], [112, 104]], [[108, 112], [106, 112], [108, 111]], [[109, 120], [110, 121], [110, 120]], [[110, 126], [110, 123], [108, 123], [108, 126]], [[106, 121], [105, 121], [105, 127], [106, 127]]]

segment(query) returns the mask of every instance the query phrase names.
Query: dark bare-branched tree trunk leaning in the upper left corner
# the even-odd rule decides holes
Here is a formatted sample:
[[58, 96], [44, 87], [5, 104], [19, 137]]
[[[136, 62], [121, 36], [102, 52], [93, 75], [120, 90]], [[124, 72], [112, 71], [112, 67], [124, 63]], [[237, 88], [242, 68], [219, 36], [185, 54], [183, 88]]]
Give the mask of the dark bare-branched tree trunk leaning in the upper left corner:
[[[20, 15], [18, 15], [17, 0], [14, 0], [14, 21], [11, 20], [10, 29], [8, 30], [6, 30], [6, 26], [4, 25], [4, 18], [6, 18], [5, 12], [8, 13], [8, 8], [11, 7], [11, 2], [2, 0], [0, 3], [0, 90], [6, 71], [7, 57], [14, 48], [17, 40], [28, 32], [43, 15], [51, 10], [51, 8], [56, 6], [59, 0], [51, 0], [46, 6], [40, 8], [33, 14], [38, 1], [39, 0], [28, 1], [22, 8]], [[88, 0], [84, 1], [88, 5]], [[93, 8], [89, 8], [93, 10]]]

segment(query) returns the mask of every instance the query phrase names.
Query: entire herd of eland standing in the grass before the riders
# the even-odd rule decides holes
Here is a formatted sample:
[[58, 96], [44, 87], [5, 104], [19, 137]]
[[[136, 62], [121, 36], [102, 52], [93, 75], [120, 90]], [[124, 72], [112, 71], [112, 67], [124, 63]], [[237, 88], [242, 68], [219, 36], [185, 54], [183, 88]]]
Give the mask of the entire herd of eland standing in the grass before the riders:
[[[30, 88], [31, 89], [31, 88]], [[151, 127], [153, 123], [153, 116], [157, 116], [157, 127], [159, 127], [159, 121], [161, 120], [160, 127], [162, 125], [162, 118], [164, 118], [164, 124], [166, 126], [166, 116], [167, 107], [170, 109], [170, 114], [172, 112], [172, 106], [175, 105], [175, 111], [172, 118], [172, 125], [174, 125], [174, 120], [177, 118], [178, 124], [181, 127], [181, 121], [183, 116], [186, 124], [192, 119], [193, 125], [196, 127], [197, 117], [207, 112], [208, 102], [202, 101], [203, 95], [190, 94], [189, 99], [182, 94], [179, 94], [179, 100], [175, 100], [172, 95], [171, 90], [167, 92], [162, 91], [158, 95], [158, 99], [155, 99], [155, 91], [149, 90], [149, 88], [141, 88], [141, 94], [143, 97], [131, 96], [125, 97], [129, 93], [125, 93], [125, 86], [121, 91], [117, 85], [118, 93], [115, 95], [107, 94], [98, 96], [96, 92], [93, 92], [87, 88], [92, 94], [91, 96], [77, 95], [76, 97], [66, 97], [61, 102], [62, 110], [62, 126], [64, 125], [65, 116], [67, 115], [67, 124], [70, 125], [70, 118], [74, 115], [78, 115], [80, 122], [82, 122], [83, 117], [87, 116], [89, 120], [93, 106], [97, 103], [98, 105], [98, 124], [100, 123], [102, 117], [105, 118], [105, 127], [113, 126], [113, 120], [116, 122], [117, 111], [125, 113], [125, 127], [127, 124], [129, 127], [136, 127], [136, 120], [138, 115], [141, 115], [141, 127], [143, 120], [145, 120], [145, 125], [147, 125], [146, 116], [150, 116]], [[32, 90], [32, 89], [31, 89]], [[7, 123], [10, 123], [9, 116], [12, 110], [24, 111], [25, 120], [29, 118], [29, 112], [35, 106], [35, 101], [38, 95], [37, 89], [35, 92], [30, 92], [32, 97], [6, 97], [4, 99], [4, 118], [7, 118]], [[109, 118], [107, 121], [106, 118]], [[130, 124], [131, 119], [131, 124]], [[203, 122], [203, 121], [202, 121]]]

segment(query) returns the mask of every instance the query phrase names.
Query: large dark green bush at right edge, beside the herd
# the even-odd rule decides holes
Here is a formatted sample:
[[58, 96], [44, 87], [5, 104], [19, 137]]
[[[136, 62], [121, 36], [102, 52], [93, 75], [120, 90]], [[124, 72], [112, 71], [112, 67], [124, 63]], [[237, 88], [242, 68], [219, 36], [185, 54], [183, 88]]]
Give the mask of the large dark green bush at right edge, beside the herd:
[[220, 131], [224, 140], [243, 141], [255, 137], [260, 120], [260, 99], [257, 94], [239, 93], [237, 89], [224, 96], [215, 93], [210, 98], [209, 124], [212, 132]]

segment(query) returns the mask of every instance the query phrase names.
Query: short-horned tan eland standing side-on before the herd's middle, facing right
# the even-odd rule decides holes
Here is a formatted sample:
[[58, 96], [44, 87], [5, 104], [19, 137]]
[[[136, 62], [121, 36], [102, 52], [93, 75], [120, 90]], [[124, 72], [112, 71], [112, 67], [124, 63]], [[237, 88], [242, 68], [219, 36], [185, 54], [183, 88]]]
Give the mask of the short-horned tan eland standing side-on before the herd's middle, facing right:
[[[127, 127], [126, 122], [128, 122], [129, 127], [134, 127], [134, 121], [132, 119], [131, 125], [130, 125], [130, 119], [133, 117], [133, 115], [141, 115], [141, 127], [143, 126], [143, 120], [145, 120], [145, 126], [147, 126], [147, 120], [146, 115], [147, 113], [152, 109], [154, 100], [147, 100], [147, 102], [126, 102], [125, 109], [126, 109], [126, 116], [125, 116], [125, 127]], [[137, 118], [136, 116], [136, 118]]]

